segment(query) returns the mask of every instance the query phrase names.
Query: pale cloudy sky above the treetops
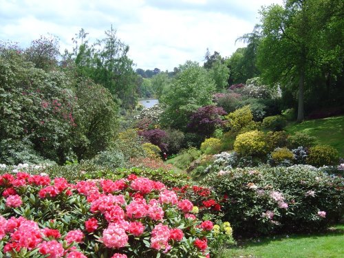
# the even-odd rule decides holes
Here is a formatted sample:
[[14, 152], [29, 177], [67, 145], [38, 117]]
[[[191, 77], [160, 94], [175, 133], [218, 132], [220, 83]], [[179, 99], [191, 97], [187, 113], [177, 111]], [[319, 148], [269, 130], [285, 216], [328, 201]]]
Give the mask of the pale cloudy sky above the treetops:
[[136, 68], [172, 71], [187, 60], [204, 63], [207, 48], [233, 54], [244, 46], [235, 39], [272, 3], [283, 0], [0, 0], [0, 41], [27, 47], [52, 34], [64, 52], [81, 28], [92, 43], [112, 25]]

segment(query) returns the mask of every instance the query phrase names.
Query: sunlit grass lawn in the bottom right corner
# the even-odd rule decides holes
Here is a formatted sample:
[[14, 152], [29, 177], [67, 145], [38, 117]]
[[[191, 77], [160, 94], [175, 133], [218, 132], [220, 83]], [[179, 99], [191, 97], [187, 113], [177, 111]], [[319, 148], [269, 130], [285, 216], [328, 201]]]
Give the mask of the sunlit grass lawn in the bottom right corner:
[[325, 233], [247, 241], [226, 250], [223, 257], [341, 258], [344, 257], [344, 224], [336, 225]]

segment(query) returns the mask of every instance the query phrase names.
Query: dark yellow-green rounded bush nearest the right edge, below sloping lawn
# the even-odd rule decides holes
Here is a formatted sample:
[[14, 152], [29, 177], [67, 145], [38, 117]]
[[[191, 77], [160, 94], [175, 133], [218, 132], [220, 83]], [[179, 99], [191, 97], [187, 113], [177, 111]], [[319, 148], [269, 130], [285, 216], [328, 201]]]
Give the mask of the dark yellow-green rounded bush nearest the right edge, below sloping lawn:
[[306, 159], [307, 164], [323, 166], [335, 164], [338, 161], [338, 151], [327, 145], [316, 145], [310, 147], [310, 153]]

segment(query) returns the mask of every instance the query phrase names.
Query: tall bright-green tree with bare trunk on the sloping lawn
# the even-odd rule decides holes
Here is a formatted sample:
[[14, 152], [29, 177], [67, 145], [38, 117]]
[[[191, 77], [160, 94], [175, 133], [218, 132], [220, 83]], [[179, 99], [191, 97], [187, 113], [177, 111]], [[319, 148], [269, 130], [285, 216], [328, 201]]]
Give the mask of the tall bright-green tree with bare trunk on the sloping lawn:
[[262, 77], [270, 84], [297, 90], [298, 122], [303, 120], [305, 89], [312, 80], [324, 70], [336, 74], [343, 70], [343, 43], [330, 49], [327, 43], [328, 28], [343, 20], [343, 10], [343, 1], [338, 0], [288, 0], [284, 6], [261, 11], [264, 39], [258, 61]]

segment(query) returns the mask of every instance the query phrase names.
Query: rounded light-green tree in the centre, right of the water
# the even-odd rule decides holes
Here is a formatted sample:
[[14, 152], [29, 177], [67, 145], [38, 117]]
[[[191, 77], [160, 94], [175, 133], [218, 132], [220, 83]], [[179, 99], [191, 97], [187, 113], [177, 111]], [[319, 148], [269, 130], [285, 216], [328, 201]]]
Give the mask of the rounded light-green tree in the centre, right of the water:
[[166, 127], [186, 129], [193, 111], [212, 103], [215, 83], [198, 63], [187, 61], [180, 65], [180, 71], [169, 92], [161, 98], [166, 105], [161, 122]]

